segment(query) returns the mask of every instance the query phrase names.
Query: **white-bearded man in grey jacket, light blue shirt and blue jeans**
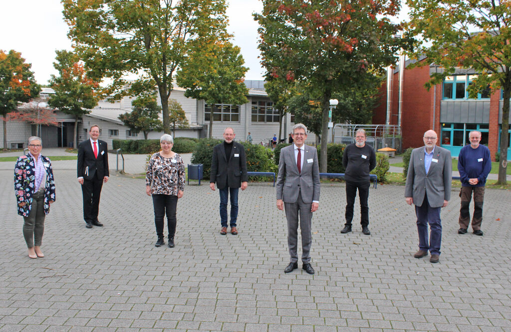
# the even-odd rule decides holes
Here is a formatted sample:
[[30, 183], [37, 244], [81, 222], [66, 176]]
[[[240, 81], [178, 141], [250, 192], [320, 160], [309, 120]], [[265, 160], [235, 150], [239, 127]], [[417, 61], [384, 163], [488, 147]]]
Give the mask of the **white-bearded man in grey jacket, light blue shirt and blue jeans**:
[[[413, 149], [406, 176], [405, 199], [415, 205], [419, 251], [413, 257], [422, 258], [431, 252], [431, 263], [438, 263], [442, 243], [440, 209], [447, 207], [451, 198], [451, 152], [436, 146], [435, 131], [424, 133], [424, 147]], [[428, 241], [428, 223], [431, 234]]]

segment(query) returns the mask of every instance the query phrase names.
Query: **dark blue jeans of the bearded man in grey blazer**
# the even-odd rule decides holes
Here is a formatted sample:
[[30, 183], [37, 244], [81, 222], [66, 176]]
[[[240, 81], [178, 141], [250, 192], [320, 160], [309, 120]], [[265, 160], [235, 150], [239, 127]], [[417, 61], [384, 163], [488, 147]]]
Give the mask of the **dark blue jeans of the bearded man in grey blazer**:
[[[442, 220], [440, 220], [440, 209], [429, 206], [428, 195], [424, 195], [422, 206], [415, 206], [417, 215], [417, 232], [419, 232], [419, 248], [424, 251], [440, 254], [440, 244], [442, 243]], [[428, 241], [428, 223], [431, 228], [431, 234]]]

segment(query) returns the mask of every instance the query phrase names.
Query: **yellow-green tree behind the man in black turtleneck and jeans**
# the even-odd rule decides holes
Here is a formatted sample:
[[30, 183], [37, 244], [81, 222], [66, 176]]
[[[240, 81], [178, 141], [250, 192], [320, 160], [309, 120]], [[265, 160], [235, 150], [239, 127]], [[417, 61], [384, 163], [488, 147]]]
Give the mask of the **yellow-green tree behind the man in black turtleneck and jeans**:
[[247, 103], [248, 90], [243, 83], [248, 68], [243, 66], [240, 48], [228, 40], [195, 43], [194, 52], [176, 77], [177, 84], [186, 88], [184, 95], [203, 99], [211, 105], [208, 137], [213, 133], [215, 104], [241, 105]]

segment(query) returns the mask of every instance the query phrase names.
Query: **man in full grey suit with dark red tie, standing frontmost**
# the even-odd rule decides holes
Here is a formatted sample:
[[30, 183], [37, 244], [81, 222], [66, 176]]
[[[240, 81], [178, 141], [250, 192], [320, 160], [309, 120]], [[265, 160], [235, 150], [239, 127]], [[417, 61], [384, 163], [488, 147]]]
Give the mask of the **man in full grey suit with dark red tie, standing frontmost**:
[[284, 270], [289, 273], [298, 268], [298, 215], [301, 230], [302, 268], [314, 274], [311, 266], [311, 219], [319, 206], [318, 154], [314, 147], [305, 145], [307, 127], [301, 123], [293, 126], [294, 144], [281, 150], [278, 160], [277, 209], [286, 208], [290, 263]]

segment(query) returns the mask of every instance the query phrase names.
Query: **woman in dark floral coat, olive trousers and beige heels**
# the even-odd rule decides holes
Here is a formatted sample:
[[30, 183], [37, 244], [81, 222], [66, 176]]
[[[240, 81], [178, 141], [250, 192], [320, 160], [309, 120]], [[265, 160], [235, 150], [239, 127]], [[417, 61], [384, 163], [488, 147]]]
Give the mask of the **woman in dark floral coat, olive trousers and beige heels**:
[[14, 167], [14, 192], [18, 214], [23, 216], [23, 235], [29, 257], [44, 257], [41, 251], [44, 218], [55, 201], [52, 163], [41, 155], [41, 139], [29, 138], [29, 153], [21, 156]]

